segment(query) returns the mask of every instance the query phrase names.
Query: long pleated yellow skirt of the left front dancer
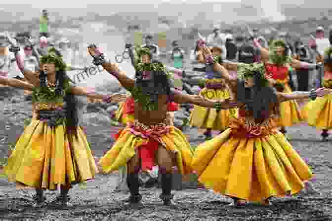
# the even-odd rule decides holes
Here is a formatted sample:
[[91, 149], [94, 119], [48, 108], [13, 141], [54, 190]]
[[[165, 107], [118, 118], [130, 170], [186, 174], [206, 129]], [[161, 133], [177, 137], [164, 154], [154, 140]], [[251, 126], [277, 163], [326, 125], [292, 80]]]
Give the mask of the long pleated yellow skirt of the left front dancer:
[[49, 127], [32, 119], [4, 167], [8, 181], [20, 187], [57, 189], [91, 180], [98, 172], [83, 130], [69, 142], [64, 125]]

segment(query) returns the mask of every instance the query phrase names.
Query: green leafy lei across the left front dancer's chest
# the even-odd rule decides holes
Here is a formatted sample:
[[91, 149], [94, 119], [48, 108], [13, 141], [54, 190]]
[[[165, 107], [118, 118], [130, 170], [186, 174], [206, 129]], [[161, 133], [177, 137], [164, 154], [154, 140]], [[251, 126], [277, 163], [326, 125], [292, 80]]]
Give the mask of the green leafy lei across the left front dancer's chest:
[[70, 87], [69, 80], [64, 82], [63, 95], [57, 95], [55, 93], [56, 87], [35, 87], [32, 94], [33, 103], [62, 103], [67, 89]]

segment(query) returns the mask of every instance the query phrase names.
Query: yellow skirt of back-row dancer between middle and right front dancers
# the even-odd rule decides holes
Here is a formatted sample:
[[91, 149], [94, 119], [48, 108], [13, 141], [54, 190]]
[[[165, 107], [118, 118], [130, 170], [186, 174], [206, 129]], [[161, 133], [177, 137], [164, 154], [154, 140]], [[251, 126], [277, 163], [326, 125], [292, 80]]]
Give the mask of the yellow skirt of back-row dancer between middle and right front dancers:
[[[203, 88], [199, 95], [210, 100], [223, 100], [230, 97], [228, 89]], [[190, 126], [224, 131], [229, 126], [230, 116], [237, 116], [237, 109], [221, 110], [217, 112], [213, 108], [203, 108], [195, 105], [190, 115]]]

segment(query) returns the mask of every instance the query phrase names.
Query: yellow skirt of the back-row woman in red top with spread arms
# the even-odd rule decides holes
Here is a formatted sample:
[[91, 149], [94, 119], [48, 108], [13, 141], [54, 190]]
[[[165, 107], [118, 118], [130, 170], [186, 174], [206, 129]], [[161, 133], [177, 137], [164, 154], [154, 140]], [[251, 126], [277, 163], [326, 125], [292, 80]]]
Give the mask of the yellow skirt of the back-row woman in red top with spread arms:
[[[290, 86], [285, 84], [283, 93], [291, 93]], [[285, 101], [280, 103], [280, 118], [278, 119], [278, 126], [290, 127], [293, 124], [303, 121], [301, 110], [296, 101]]]

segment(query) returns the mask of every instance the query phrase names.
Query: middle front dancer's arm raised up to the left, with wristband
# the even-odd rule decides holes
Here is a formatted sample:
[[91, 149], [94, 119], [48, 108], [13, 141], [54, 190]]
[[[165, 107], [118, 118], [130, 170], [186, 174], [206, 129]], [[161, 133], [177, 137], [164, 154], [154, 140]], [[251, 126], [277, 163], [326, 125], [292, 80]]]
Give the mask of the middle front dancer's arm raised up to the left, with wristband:
[[135, 86], [135, 80], [128, 77], [125, 72], [120, 71], [118, 64], [106, 63], [106, 60], [100, 50], [93, 44], [88, 46], [88, 51], [93, 57], [93, 63], [95, 65], [102, 65], [103, 68], [113, 76], [115, 76], [120, 84], [126, 88], [131, 89]]

